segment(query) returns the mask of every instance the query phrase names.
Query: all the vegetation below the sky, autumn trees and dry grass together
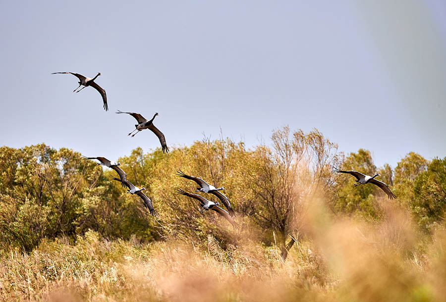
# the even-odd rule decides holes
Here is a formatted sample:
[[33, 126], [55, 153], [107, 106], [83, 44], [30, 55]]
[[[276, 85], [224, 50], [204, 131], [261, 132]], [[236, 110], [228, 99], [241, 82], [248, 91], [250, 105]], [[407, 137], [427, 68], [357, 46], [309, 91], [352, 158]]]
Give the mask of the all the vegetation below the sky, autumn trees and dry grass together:
[[[205, 138], [117, 161], [158, 218], [76, 151], [1, 148], [4, 300], [441, 300], [446, 158], [376, 167], [370, 151], [283, 127], [271, 146]], [[397, 199], [332, 166], [379, 172]], [[196, 188], [178, 169], [223, 186], [241, 231], [175, 194]]]

